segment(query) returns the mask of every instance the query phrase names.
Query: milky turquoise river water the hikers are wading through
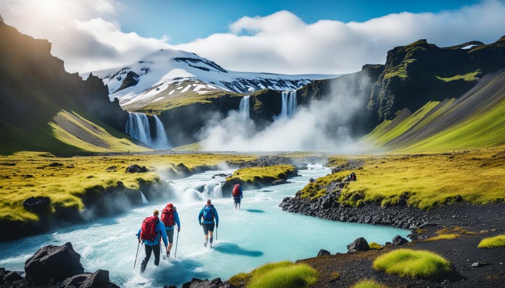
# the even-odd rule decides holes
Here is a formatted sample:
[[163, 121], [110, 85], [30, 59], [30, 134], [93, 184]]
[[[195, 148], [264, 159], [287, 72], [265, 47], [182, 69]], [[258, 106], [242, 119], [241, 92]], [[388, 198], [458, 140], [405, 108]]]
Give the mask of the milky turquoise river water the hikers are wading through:
[[[209, 171], [175, 180], [172, 185], [177, 196], [163, 203], [150, 203], [129, 213], [60, 229], [58, 233], [0, 243], [3, 252], [0, 266], [22, 270], [24, 261], [40, 247], [70, 241], [81, 254], [86, 271], [109, 270], [111, 280], [122, 287], [180, 285], [192, 277], [227, 279], [267, 262], [314, 257], [320, 249], [345, 252], [345, 246], [358, 237], [384, 244], [395, 235], [406, 237], [409, 234], [407, 230], [393, 227], [329, 221], [282, 211], [278, 205], [284, 197], [293, 196], [310, 178], [329, 172], [320, 165], [311, 167], [313, 169], [300, 170], [302, 176], [291, 179], [291, 184], [244, 191], [239, 211], [233, 210], [231, 198], [222, 197], [220, 183], [224, 178], [212, 178], [221, 172], [229, 174], [231, 170]], [[214, 241], [213, 250], [204, 248], [204, 233], [197, 220], [199, 210], [209, 197], [220, 218], [218, 241]], [[140, 248], [133, 270], [137, 250], [135, 234], [146, 216], [168, 202], [177, 206], [182, 226], [177, 258], [162, 259], [160, 266], [155, 267], [151, 256], [145, 273], [140, 274], [138, 269], [144, 250]], [[177, 232], [174, 241], [176, 238]], [[174, 252], [175, 243], [172, 254]]]

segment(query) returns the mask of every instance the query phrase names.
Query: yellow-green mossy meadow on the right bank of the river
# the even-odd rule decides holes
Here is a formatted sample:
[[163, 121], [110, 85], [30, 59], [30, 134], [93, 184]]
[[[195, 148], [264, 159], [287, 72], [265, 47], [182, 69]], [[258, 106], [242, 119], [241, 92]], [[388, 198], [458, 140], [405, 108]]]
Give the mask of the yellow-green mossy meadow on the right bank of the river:
[[[492, 149], [440, 154], [390, 154], [352, 157], [365, 161], [354, 170], [358, 181], [347, 184], [338, 199], [356, 205], [378, 201], [382, 205], [406, 199], [409, 205], [431, 208], [453, 203], [457, 196], [475, 204], [505, 200], [503, 177], [505, 146]], [[334, 163], [343, 162], [341, 157]], [[332, 160], [332, 159], [330, 159]], [[301, 190], [301, 197], [318, 198], [331, 191], [325, 187], [339, 182], [350, 171], [319, 178]], [[407, 192], [407, 193], [405, 193]]]

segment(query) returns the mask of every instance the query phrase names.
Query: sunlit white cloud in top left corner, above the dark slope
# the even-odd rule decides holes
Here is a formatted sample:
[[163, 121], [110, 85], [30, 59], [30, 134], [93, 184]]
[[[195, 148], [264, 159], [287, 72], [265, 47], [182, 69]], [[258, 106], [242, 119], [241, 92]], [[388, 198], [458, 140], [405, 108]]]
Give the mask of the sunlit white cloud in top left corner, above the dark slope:
[[116, 0], [0, 0], [5, 22], [52, 42], [52, 54], [69, 72], [119, 67], [168, 47], [167, 38], [122, 32], [113, 21], [121, 9], [127, 8]]

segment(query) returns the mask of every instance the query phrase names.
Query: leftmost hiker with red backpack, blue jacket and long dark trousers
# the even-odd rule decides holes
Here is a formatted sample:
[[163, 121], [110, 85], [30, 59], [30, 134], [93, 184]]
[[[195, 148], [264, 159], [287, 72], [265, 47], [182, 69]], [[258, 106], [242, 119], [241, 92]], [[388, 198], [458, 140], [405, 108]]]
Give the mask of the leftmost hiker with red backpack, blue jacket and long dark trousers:
[[140, 273], [144, 272], [145, 266], [147, 266], [147, 262], [149, 262], [149, 258], [151, 257], [151, 252], [155, 254], [155, 265], [158, 266], [160, 264], [161, 238], [163, 238], [163, 244], [165, 244], [165, 249], [168, 252], [167, 232], [165, 224], [158, 218], [159, 214], [160, 212], [155, 210], [153, 216], [146, 217], [137, 233], [138, 242], [142, 240], [145, 248], [145, 258], [140, 265]]

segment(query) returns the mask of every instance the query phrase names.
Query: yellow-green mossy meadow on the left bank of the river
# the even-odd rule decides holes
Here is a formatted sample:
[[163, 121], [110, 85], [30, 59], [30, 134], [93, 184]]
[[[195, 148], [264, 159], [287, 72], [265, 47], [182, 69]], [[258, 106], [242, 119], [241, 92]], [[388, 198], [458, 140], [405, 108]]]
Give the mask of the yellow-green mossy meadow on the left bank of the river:
[[[115, 186], [122, 181], [126, 187], [138, 188], [138, 179], [157, 181], [155, 172], [125, 174], [128, 165], [137, 163], [151, 170], [184, 163], [189, 169], [199, 165], [216, 165], [225, 160], [250, 160], [254, 157], [226, 154], [145, 154], [117, 156], [76, 156], [56, 158], [48, 153], [21, 152], [0, 156], [0, 219], [36, 220], [22, 202], [31, 196], [49, 196], [53, 203], [83, 208], [79, 196], [93, 186]], [[52, 162], [64, 164], [48, 167]], [[14, 166], [4, 163], [15, 163]], [[69, 167], [70, 166], [70, 167]], [[110, 166], [116, 169], [107, 170]], [[32, 175], [26, 178], [23, 175]], [[87, 178], [92, 176], [92, 178]]]

